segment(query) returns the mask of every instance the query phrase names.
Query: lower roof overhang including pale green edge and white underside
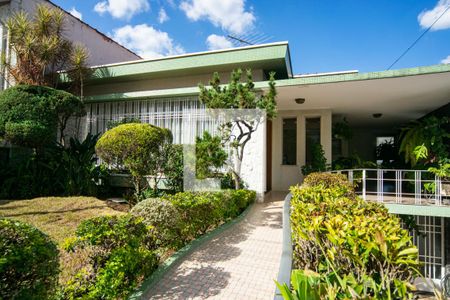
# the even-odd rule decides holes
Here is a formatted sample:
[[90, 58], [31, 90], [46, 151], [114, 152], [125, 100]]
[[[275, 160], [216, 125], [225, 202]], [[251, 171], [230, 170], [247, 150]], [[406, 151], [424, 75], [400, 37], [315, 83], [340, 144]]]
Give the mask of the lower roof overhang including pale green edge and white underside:
[[[450, 101], [450, 65], [371, 73], [341, 73], [277, 80], [279, 110], [331, 109], [353, 126], [390, 128], [416, 120]], [[268, 82], [255, 82], [266, 89]], [[197, 95], [198, 87], [85, 97], [86, 102]], [[296, 98], [305, 98], [297, 104]], [[381, 118], [373, 114], [381, 113]]]

